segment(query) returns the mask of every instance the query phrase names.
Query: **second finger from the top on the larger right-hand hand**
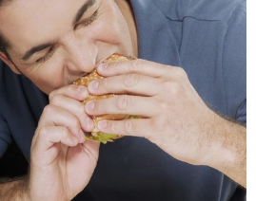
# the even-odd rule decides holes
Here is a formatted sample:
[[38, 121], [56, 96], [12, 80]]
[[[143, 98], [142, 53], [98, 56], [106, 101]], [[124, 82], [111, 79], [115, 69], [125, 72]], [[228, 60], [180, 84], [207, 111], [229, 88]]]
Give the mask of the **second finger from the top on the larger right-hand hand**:
[[128, 74], [89, 83], [89, 93], [94, 95], [102, 94], [134, 94], [154, 96], [159, 93], [159, 80], [139, 74]]

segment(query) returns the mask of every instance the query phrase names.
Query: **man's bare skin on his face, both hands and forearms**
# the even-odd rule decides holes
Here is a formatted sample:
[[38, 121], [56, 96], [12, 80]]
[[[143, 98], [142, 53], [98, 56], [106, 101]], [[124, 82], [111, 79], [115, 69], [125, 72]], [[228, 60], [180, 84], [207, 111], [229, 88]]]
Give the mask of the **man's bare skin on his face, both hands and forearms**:
[[[29, 177], [1, 184], [0, 195], [7, 200], [60, 200], [60, 195], [61, 200], [70, 200], [81, 192], [99, 150], [98, 143], [85, 141], [83, 131], [93, 129], [89, 115], [103, 114], [145, 117], [104, 120], [98, 127], [111, 134], [146, 137], [167, 154], [215, 168], [246, 187], [246, 128], [211, 111], [180, 67], [143, 60], [102, 64], [115, 52], [137, 57], [132, 12], [126, 1], [96, 0], [73, 26], [85, 2], [16, 0], [1, 8], [0, 25], [5, 26], [0, 29], [11, 47], [10, 58], [4, 53], [0, 57], [13, 72], [24, 74], [49, 94], [49, 105], [33, 137]], [[22, 60], [28, 49], [47, 43], [52, 46]], [[70, 84], [95, 67], [107, 78], [89, 88]], [[84, 106], [80, 100], [89, 93], [127, 95]], [[155, 105], [157, 110], [152, 109]]]

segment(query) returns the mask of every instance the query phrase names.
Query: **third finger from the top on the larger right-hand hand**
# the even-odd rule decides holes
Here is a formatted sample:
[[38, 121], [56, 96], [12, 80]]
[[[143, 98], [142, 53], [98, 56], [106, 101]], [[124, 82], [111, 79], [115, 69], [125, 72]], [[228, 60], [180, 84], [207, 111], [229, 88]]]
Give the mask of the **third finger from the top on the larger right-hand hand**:
[[103, 100], [90, 100], [86, 104], [86, 111], [91, 116], [106, 114], [127, 114], [152, 117], [155, 115], [154, 99], [120, 95]]

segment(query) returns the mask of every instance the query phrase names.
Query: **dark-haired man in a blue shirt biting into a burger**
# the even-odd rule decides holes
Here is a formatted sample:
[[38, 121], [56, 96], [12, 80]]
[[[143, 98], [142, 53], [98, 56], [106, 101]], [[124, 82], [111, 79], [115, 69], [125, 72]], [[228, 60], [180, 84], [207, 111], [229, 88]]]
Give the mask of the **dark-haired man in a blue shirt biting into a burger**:
[[[246, 1], [0, 2], [0, 155], [13, 138], [30, 160], [1, 199], [231, 200], [246, 187]], [[116, 52], [144, 60], [102, 64]], [[106, 79], [71, 84], [95, 66]], [[81, 103], [108, 93], [121, 95]], [[127, 137], [99, 152], [84, 131], [102, 114], [145, 118], [100, 121]]]

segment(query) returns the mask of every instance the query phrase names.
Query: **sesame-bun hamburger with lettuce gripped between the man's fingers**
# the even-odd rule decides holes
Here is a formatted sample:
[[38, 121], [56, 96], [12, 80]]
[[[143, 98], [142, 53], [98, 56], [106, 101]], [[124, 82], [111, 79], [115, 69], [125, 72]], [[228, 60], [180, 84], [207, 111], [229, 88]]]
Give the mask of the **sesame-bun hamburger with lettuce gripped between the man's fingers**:
[[[113, 54], [111, 55], [107, 60], [104, 61], [104, 63], [111, 63], [111, 62], [127, 62], [129, 60], [134, 59], [131, 56], [124, 56], [120, 54]], [[79, 78], [77, 81], [73, 82], [76, 85], [83, 85], [88, 87], [89, 82], [98, 80], [98, 79], [103, 79], [104, 77], [99, 75], [97, 73], [97, 70], [93, 70], [89, 75], [85, 77]], [[101, 99], [108, 99], [110, 97], [118, 96], [115, 94], [107, 94], [107, 95], [89, 95], [89, 97], [83, 101], [84, 104], [89, 102], [89, 100], [101, 100]], [[130, 115], [122, 115], [122, 114], [117, 114], [117, 115], [101, 115], [101, 116], [92, 116], [91, 117], [93, 122], [94, 122], [94, 129], [92, 132], [85, 132], [85, 136], [87, 139], [90, 140], [95, 140], [99, 141], [102, 143], [107, 143], [107, 142], [112, 142], [117, 138], [123, 137], [120, 135], [112, 135], [112, 134], [106, 134], [102, 133], [98, 128], [97, 128], [97, 122], [103, 119], [111, 119], [111, 120], [122, 120], [122, 119], [134, 119], [136, 118], [135, 116], [130, 116]]]

